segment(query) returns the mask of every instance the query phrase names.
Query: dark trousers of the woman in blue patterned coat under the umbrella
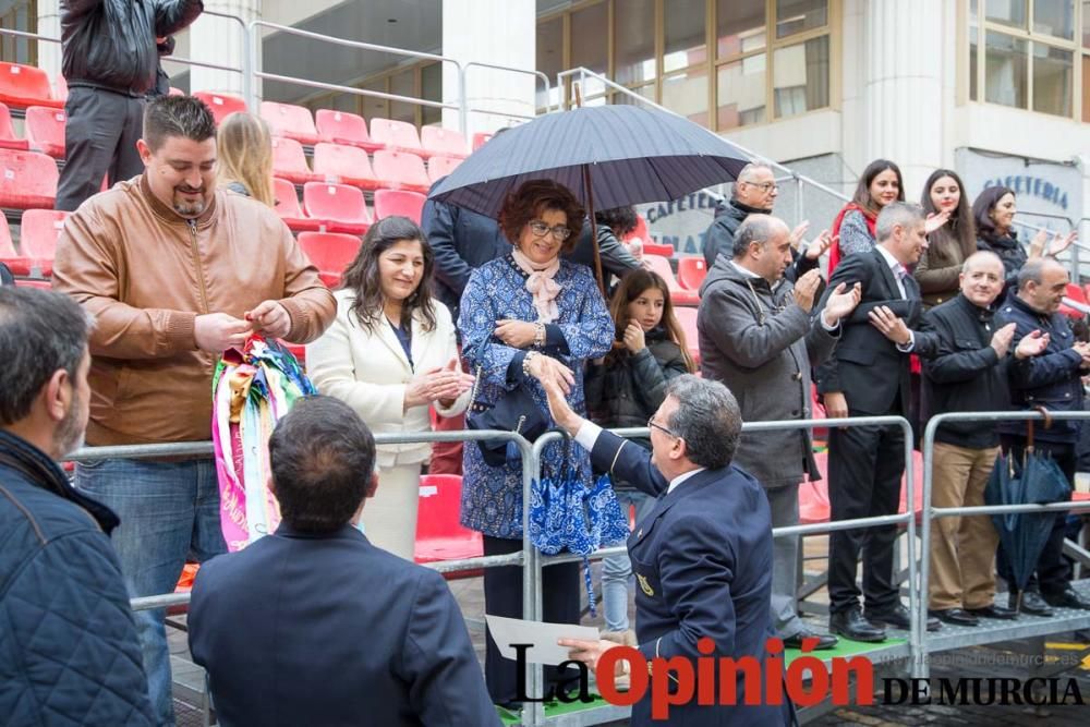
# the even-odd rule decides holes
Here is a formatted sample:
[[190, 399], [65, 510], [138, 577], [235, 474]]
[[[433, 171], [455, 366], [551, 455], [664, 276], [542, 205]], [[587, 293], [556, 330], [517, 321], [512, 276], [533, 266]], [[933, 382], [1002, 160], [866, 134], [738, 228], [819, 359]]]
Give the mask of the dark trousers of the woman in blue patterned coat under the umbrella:
[[[522, 549], [522, 541], [484, 536], [486, 556], [506, 555]], [[579, 623], [579, 568], [578, 562], [549, 566], [542, 569], [542, 606], [544, 619], [552, 623]], [[486, 568], [484, 571], [484, 610], [493, 616], [522, 618], [522, 569], [517, 566]], [[518, 670], [513, 659], [505, 658], [485, 629], [487, 644], [484, 659], [484, 678], [488, 694], [496, 704], [517, 701]], [[545, 667], [546, 690], [560, 687], [579, 678], [576, 669], [559, 671]], [[529, 684], [528, 684], [529, 688]], [[525, 694], [540, 699], [541, 694]]]

